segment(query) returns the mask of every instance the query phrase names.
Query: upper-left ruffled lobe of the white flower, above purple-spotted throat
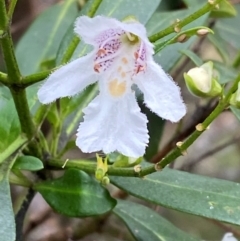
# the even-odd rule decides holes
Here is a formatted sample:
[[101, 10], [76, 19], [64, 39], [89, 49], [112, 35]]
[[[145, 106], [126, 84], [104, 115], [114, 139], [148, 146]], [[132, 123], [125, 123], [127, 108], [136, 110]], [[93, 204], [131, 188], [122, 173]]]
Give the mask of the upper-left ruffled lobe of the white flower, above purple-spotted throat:
[[84, 42], [96, 45], [96, 38], [104, 31], [119, 28], [120, 23], [114, 18], [96, 16], [89, 18], [81, 16], [75, 21], [74, 32], [78, 34]]

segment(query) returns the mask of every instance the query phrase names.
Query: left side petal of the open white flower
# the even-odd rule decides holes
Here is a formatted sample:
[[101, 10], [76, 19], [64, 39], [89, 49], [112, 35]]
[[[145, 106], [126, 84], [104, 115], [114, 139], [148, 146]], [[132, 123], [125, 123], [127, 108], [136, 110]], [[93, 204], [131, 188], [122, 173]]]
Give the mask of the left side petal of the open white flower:
[[97, 77], [90, 53], [54, 71], [39, 89], [39, 101], [47, 104], [60, 97], [73, 96], [96, 82]]

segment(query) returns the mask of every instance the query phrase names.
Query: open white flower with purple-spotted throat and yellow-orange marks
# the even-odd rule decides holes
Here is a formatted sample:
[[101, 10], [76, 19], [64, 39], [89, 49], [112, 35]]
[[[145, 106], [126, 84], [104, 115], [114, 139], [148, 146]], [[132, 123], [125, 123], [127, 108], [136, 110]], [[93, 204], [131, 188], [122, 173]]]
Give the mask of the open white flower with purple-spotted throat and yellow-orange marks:
[[149, 139], [147, 118], [140, 112], [132, 86], [143, 92], [153, 112], [172, 122], [186, 113], [179, 88], [154, 62], [153, 45], [142, 24], [82, 16], [74, 30], [94, 49], [52, 73], [38, 92], [39, 100], [46, 104], [73, 96], [98, 81], [100, 93], [84, 109], [77, 146], [83, 152], [142, 156]]

